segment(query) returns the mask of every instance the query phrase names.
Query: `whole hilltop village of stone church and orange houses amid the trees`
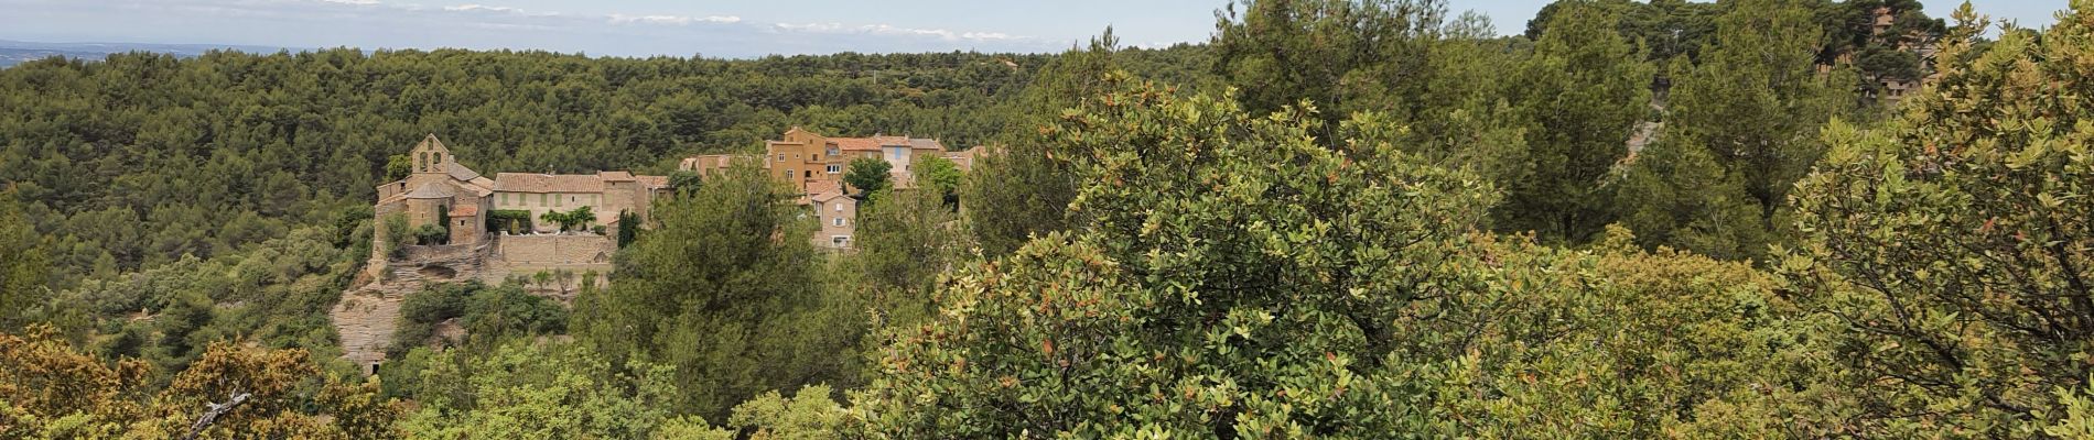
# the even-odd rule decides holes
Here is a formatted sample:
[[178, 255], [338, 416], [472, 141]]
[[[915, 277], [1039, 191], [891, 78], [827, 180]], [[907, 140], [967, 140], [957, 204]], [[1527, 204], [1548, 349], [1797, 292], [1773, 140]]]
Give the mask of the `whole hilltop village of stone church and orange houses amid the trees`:
[[[946, 150], [930, 138], [827, 138], [792, 127], [783, 140], [766, 140], [764, 154], [687, 156], [678, 171], [706, 177], [737, 163], [758, 165], [789, 186], [798, 204], [821, 223], [812, 238], [817, 248], [848, 252], [863, 196], [844, 184], [852, 161], [888, 163], [892, 188], [909, 190], [917, 158], [946, 158], [967, 171], [980, 152], [980, 146]], [[486, 177], [461, 165], [436, 133], [415, 144], [408, 161], [406, 177], [377, 186], [379, 225], [369, 265], [331, 313], [343, 355], [366, 371], [385, 359], [406, 294], [448, 282], [553, 275], [559, 288], [532, 292], [572, 304], [567, 286], [605, 284], [622, 229], [645, 227], [653, 202], [674, 192], [668, 175], [630, 171]]]

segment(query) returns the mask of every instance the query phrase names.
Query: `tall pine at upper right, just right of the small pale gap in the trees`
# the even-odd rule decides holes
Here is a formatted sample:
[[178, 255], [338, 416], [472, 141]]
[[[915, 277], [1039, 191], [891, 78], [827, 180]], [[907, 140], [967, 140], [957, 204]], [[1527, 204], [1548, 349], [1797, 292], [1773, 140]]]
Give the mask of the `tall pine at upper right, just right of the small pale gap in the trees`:
[[[1811, 19], [1811, 10], [1801, 0], [1740, 0], [1717, 19], [1715, 46], [1702, 50], [1698, 65], [1688, 69], [1675, 60], [1665, 131], [1658, 142], [1702, 148], [1721, 167], [1721, 173], [1702, 173], [1700, 165], [1665, 165], [1640, 158], [1633, 167], [1656, 167], [1656, 171], [1646, 171], [1648, 177], [1673, 186], [1671, 190], [1658, 186], [1623, 188], [1619, 200], [1629, 204], [1623, 211], [1642, 213], [1638, 215], [1642, 227], [1635, 231], [1646, 244], [1757, 259], [1765, 254], [1765, 244], [1778, 238], [1767, 231], [1782, 229], [1786, 223], [1782, 206], [1788, 188], [1809, 171], [1809, 165], [1824, 150], [1815, 140], [1818, 129], [1853, 102], [1851, 92], [1828, 88], [1828, 81], [1834, 79], [1818, 73], [1813, 54], [1822, 31]], [[1673, 158], [1698, 161], [1686, 152], [1654, 161]], [[1707, 181], [1715, 175], [1736, 179], [1742, 186], [1755, 209], [1755, 225], [1671, 234], [1688, 227], [1679, 221], [1738, 225], [1728, 215], [1711, 217], [1711, 213], [1728, 213], [1730, 209], [1719, 204], [1732, 200], [1713, 194], [1723, 190], [1698, 188], [1715, 186]], [[1700, 200], [1673, 200], [1663, 192]], [[1654, 215], [1669, 209], [1667, 204], [1696, 209]], [[1675, 223], [1652, 223], [1665, 217], [1675, 219]], [[1684, 242], [1684, 238], [1696, 236], [1702, 240]]]

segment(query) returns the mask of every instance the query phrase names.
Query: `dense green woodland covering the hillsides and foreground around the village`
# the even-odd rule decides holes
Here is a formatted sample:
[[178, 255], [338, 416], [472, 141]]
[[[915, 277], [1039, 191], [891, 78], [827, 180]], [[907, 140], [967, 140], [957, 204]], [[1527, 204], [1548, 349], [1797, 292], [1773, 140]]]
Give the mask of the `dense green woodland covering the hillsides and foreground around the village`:
[[[2090, 438], [2071, 8], [1244, 0], [1158, 50], [25, 63], [0, 438], [172, 438], [235, 394], [201, 438]], [[377, 375], [339, 361], [371, 188], [423, 133], [668, 173], [792, 125], [995, 154], [856, 194], [842, 254], [758, 169], [678, 177], [607, 288], [438, 286]]]

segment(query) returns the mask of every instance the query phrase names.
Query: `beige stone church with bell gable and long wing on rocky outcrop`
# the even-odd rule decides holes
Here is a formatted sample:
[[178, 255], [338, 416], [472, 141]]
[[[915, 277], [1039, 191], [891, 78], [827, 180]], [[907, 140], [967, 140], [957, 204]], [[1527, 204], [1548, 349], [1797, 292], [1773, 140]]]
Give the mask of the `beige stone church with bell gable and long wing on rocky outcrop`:
[[[413, 173], [377, 188], [371, 263], [341, 294], [331, 313], [350, 361], [366, 369], [383, 361], [400, 319], [400, 300], [429, 284], [480, 279], [503, 284], [540, 271], [611, 273], [620, 213], [649, 217], [653, 200], [670, 192], [668, 177], [601, 171], [591, 175], [496, 173], [492, 179], [459, 165], [433, 133], [408, 152]], [[580, 231], [559, 231], [551, 221], [503, 225], [498, 213], [540, 219], [588, 206], [595, 219]], [[404, 217], [406, 229], [442, 227], [440, 244], [387, 248], [385, 221]], [[597, 277], [603, 279], [603, 277]], [[540, 292], [559, 296], [561, 290]], [[572, 300], [572, 298], [559, 298]]]

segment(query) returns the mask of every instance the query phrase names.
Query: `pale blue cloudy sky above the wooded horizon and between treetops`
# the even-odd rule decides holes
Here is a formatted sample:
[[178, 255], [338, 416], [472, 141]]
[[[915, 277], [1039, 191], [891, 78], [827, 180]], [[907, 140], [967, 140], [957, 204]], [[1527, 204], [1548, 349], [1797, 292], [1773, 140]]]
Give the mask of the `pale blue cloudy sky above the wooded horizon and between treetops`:
[[[1227, 0], [0, 0], [0, 40], [279, 48], [513, 48], [607, 56], [1060, 52], [1204, 42]], [[1547, 0], [1453, 0], [1518, 33]], [[1929, 2], [1947, 17], [1954, 2]], [[2065, 0], [1985, 0], [2025, 27]]]

